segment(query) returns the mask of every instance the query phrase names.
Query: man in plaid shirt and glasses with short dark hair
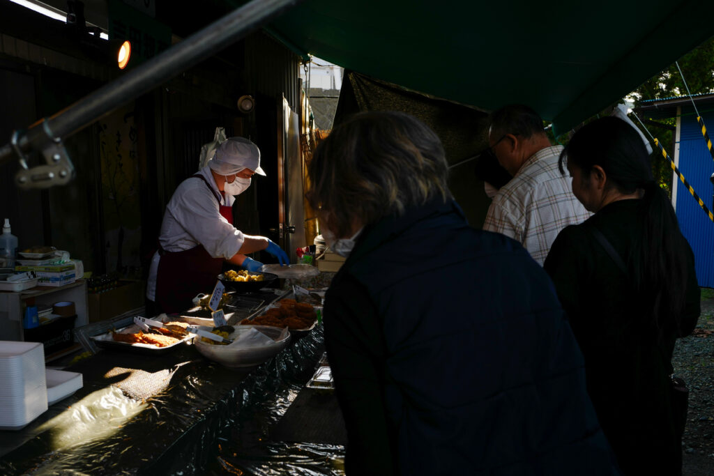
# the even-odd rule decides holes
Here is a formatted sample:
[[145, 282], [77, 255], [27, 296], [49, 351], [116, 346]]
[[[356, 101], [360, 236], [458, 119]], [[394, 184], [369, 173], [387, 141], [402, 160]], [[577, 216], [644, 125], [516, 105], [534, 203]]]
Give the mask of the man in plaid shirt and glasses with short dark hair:
[[488, 141], [513, 179], [493, 197], [483, 229], [513, 238], [543, 265], [558, 232], [590, 216], [558, 171], [563, 148], [551, 146], [543, 119], [521, 104], [491, 114]]

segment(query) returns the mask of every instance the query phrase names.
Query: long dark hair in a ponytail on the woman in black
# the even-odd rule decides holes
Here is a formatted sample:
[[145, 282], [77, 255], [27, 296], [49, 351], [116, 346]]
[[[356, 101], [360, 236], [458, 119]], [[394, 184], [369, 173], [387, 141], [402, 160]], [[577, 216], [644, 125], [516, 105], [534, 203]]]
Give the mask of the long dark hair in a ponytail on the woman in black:
[[638, 213], [643, 226], [640, 235], [632, 237], [635, 252], [628, 263], [630, 277], [640, 303], [651, 306], [655, 325], [660, 330], [678, 325], [685, 303], [688, 245], [669, 198], [653, 178], [642, 138], [622, 119], [600, 118], [570, 139], [560, 153], [561, 172], [565, 161], [580, 168], [585, 177], [594, 166], [602, 167], [606, 187], [620, 193], [644, 192]]

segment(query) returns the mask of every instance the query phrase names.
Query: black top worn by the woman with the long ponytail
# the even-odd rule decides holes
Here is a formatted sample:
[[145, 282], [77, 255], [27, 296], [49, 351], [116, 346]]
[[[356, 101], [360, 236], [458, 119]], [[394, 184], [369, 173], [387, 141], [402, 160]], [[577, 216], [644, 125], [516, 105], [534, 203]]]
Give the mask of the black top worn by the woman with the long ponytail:
[[[558, 297], [585, 357], [588, 393], [600, 425], [628, 475], [678, 475], [681, 443], [670, 402], [675, 339], [694, 329], [700, 290], [694, 255], [687, 247], [686, 307], [680, 325], [658, 328], [593, 228], [603, 233], [623, 262], [640, 245], [639, 200], [616, 201], [555, 238], [545, 259]], [[678, 229], [670, 233], [680, 233]], [[686, 243], [686, 242], [685, 242]], [[651, 302], [652, 294], [643, 299]]]

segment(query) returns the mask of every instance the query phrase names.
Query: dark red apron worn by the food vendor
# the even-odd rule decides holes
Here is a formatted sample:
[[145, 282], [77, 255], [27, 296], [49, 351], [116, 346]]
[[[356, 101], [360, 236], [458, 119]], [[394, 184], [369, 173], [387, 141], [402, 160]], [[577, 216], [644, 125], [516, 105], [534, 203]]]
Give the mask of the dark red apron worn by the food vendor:
[[[201, 175], [206, 186], [216, 195], [223, 218], [233, 225], [233, 208], [221, 205], [221, 196]], [[223, 270], [223, 258], [213, 258], [203, 245], [190, 250], [170, 252], [159, 246], [159, 270], [156, 272], [156, 303], [164, 313], [180, 313], [193, 307], [198, 293], [211, 293], [216, 278]]]

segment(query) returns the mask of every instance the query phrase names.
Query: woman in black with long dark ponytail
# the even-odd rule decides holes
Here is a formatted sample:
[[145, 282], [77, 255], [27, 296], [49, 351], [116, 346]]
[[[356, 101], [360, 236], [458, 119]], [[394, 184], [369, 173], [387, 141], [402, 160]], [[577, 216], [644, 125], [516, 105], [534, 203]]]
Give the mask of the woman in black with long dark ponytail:
[[543, 267], [583, 351], [598, 420], [626, 475], [680, 475], [686, 406], [670, 375], [675, 340], [700, 313], [694, 255], [633, 126], [588, 123], [559, 165], [595, 215], [564, 228]]

